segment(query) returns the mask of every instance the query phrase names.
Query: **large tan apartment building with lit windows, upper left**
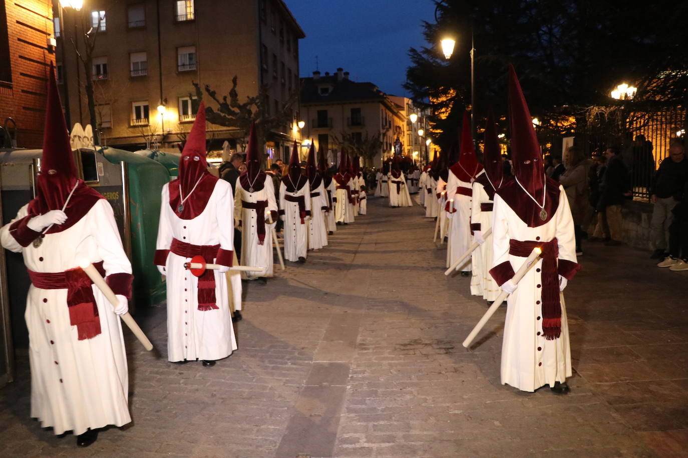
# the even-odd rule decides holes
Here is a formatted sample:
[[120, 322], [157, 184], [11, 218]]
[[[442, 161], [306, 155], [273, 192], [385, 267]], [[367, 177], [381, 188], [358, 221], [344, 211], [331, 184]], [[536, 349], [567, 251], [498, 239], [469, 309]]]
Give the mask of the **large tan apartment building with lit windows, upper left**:
[[[55, 27], [63, 47], [58, 81], [67, 89], [72, 124], [89, 123], [85, 78], [93, 81], [101, 144], [176, 150], [195, 119], [193, 82], [207, 84], [220, 101], [234, 76], [241, 101], [264, 87], [268, 115], [283, 111], [299, 89], [299, 39], [305, 35], [282, 0], [88, 0], [82, 10], [62, 13], [63, 24]], [[72, 40], [91, 27], [95, 45], [85, 71]], [[85, 42], [74, 42], [84, 56]], [[208, 94], [203, 97], [217, 108]], [[298, 102], [290, 107], [292, 119], [268, 136], [268, 148], [282, 150], [298, 137], [292, 128], [298, 109]], [[211, 150], [224, 141], [236, 148], [246, 135], [207, 127]]]

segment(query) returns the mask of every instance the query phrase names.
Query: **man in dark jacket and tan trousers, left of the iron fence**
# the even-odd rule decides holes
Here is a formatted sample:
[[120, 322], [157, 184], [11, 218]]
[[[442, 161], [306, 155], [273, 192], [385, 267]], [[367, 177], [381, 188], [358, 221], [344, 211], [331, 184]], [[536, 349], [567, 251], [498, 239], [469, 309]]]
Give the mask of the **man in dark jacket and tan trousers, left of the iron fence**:
[[602, 236], [606, 245], [621, 244], [621, 205], [631, 196], [628, 170], [619, 155], [619, 148], [612, 146], [605, 151], [607, 168], [602, 176], [600, 196], [597, 201], [597, 227], [595, 236]]

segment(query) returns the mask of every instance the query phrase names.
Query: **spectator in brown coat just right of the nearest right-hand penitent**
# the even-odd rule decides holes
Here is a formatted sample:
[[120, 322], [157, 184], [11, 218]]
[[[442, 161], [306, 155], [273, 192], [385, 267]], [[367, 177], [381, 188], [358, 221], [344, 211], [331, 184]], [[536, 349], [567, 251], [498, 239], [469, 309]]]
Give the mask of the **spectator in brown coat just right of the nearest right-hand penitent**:
[[[559, 176], [559, 183], [563, 186], [571, 207], [573, 227], [576, 236], [576, 254], [582, 255], [581, 242], [585, 233], [583, 227], [590, 224], [592, 207], [588, 202], [588, 174], [590, 172], [590, 160], [585, 159], [583, 150], [578, 146], [570, 146], [563, 154], [563, 165], [566, 171]], [[556, 172], [555, 172], [556, 173]]]

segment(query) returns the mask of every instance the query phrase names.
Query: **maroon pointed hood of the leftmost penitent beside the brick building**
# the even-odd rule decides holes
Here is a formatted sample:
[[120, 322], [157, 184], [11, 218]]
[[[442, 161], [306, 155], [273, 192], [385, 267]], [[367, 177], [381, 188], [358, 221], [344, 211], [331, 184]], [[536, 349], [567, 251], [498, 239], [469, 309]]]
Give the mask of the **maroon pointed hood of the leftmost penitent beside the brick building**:
[[50, 210], [61, 210], [67, 204], [64, 209], [67, 220], [61, 225], [53, 225], [45, 233], [61, 232], [76, 224], [101, 198], [103, 196], [78, 178], [72, 146], [69, 144], [67, 123], [57, 90], [55, 69], [50, 65], [41, 169], [36, 179], [36, 197], [29, 203], [28, 218], [45, 214]]

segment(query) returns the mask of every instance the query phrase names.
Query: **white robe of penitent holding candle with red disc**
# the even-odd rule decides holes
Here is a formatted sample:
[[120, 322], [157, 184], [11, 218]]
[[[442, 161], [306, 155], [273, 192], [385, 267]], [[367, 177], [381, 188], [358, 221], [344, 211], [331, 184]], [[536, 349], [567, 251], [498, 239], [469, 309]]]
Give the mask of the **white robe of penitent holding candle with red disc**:
[[[176, 238], [193, 245], [219, 244], [221, 249], [234, 250], [234, 196], [230, 183], [218, 180], [202, 213], [191, 220], [179, 218], [169, 201], [169, 184], [166, 184], [162, 187], [156, 249], [169, 250], [172, 239]], [[226, 275], [214, 271], [217, 308], [198, 310], [198, 277], [184, 268], [184, 263], [189, 261], [191, 258], [170, 251], [165, 262], [167, 358], [170, 361], [226, 358], [237, 350]], [[240, 304], [235, 304], [237, 310]]]

